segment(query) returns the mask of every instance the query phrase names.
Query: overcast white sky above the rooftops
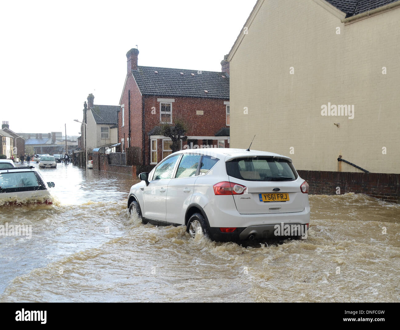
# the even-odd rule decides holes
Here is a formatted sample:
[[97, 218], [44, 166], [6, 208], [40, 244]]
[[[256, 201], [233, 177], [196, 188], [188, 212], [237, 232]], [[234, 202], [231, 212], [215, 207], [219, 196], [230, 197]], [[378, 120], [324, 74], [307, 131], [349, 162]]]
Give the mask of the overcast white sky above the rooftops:
[[220, 71], [256, 0], [4, 1], [0, 121], [78, 135], [83, 102], [118, 105], [126, 52], [138, 64]]

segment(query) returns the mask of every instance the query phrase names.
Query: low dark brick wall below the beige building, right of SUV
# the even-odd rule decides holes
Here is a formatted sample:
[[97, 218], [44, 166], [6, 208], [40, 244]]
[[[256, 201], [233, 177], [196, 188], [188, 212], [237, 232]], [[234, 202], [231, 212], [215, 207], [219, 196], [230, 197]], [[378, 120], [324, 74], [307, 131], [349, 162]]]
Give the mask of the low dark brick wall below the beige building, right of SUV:
[[335, 195], [354, 192], [400, 204], [400, 174], [330, 172], [298, 170], [301, 178], [310, 185], [310, 194]]

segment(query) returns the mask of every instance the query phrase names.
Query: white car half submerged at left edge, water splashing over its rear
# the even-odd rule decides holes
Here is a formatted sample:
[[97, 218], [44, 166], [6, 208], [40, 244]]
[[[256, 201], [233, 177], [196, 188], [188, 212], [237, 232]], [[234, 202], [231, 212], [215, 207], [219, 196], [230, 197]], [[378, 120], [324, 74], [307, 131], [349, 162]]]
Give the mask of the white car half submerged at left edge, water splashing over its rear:
[[39, 203], [52, 204], [49, 188], [33, 166], [0, 168], [0, 205]]

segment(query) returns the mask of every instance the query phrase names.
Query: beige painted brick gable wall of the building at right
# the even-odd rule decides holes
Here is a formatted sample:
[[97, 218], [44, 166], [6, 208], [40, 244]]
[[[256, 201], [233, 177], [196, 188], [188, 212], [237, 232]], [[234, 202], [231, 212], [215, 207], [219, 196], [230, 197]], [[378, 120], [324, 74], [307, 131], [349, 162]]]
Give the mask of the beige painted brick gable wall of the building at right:
[[[252, 148], [290, 156], [299, 170], [336, 171], [341, 154], [400, 173], [400, 8], [345, 25], [322, 2], [262, 4], [230, 61], [230, 146], [247, 148], [256, 134]], [[328, 102], [354, 105], [354, 119], [322, 116]]]

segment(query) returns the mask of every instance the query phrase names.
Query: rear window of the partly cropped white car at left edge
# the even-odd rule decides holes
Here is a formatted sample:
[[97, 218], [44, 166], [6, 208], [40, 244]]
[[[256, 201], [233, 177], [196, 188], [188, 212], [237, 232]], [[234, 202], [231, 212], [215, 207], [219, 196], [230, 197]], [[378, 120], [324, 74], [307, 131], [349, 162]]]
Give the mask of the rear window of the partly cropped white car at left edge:
[[35, 172], [7, 172], [0, 174], [0, 192], [43, 189], [43, 182]]

